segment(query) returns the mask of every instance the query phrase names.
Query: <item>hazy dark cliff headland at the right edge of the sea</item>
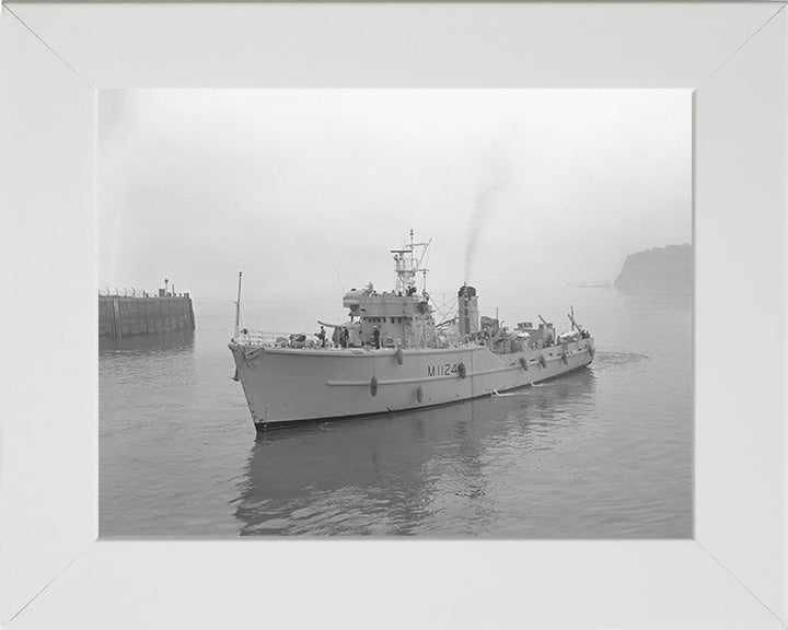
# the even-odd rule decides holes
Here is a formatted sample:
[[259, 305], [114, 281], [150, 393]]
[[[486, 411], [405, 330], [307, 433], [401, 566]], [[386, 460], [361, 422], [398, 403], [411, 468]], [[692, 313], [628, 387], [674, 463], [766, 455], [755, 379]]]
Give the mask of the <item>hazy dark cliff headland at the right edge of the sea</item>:
[[615, 285], [622, 291], [692, 291], [692, 245], [668, 245], [630, 254]]

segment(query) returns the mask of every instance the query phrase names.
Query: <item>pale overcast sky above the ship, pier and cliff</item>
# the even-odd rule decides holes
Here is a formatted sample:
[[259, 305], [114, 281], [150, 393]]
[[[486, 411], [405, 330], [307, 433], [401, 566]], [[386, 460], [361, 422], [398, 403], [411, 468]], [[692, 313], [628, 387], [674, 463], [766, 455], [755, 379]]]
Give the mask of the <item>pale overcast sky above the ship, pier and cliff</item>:
[[100, 97], [100, 287], [202, 300], [609, 282], [692, 242], [690, 91], [151, 90]]

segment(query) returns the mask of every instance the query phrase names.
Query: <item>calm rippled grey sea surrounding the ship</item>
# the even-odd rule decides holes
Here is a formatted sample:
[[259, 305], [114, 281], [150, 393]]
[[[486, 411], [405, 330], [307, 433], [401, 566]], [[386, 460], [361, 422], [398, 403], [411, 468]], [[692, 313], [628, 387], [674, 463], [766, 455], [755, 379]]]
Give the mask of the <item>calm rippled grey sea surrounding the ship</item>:
[[[559, 329], [575, 305], [590, 368], [260, 436], [230, 380], [229, 303], [197, 299], [195, 334], [102, 342], [101, 536], [691, 537], [692, 296], [565, 287], [528, 302]], [[245, 312], [256, 328], [277, 317]]]

